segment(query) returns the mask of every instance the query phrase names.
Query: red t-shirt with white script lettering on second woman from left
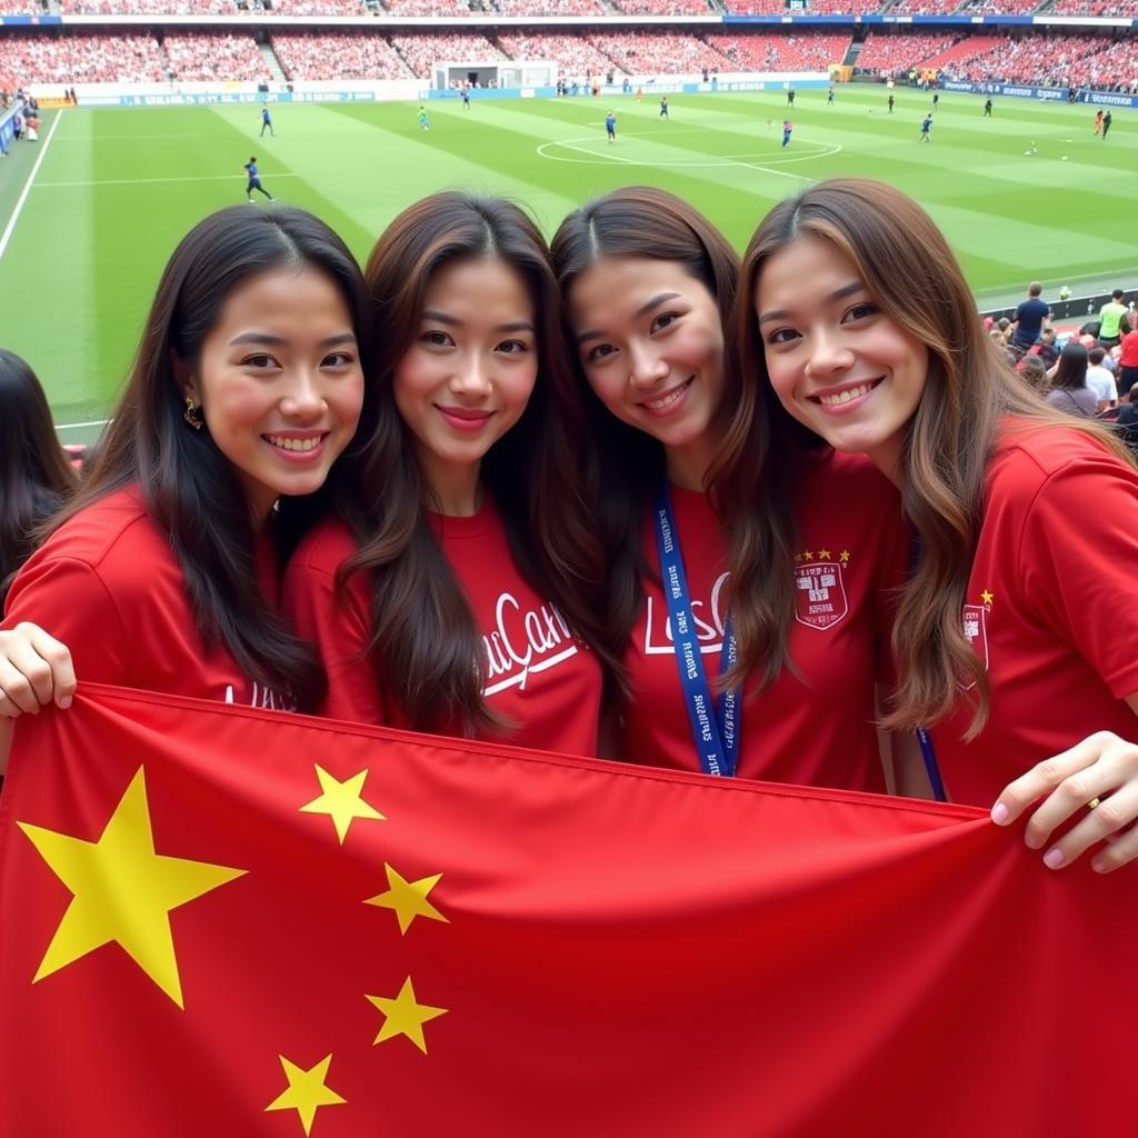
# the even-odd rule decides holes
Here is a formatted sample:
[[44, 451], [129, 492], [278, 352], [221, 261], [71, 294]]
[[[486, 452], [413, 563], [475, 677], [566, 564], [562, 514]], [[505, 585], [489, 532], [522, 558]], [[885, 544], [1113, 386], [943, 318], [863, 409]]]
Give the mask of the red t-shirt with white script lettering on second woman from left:
[[[487, 501], [473, 518], [431, 514], [431, 520], [483, 630], [484, 694], [490, 709], [513, 724], [494, 737], [518, 747], [595, 754], [601, 666], [574, 638], [556, 608], [522, 578], [497, 511]], [[405, 727], [402, 709], [380, 688], [363, 655], [371, 636], [365, 576], [355, 574], [346, 593], [336, 593], [336, 570], [355, 552], [344, 525], [316, 527], [284, 574], [284, 611], [328, 668], [323, 715]]]

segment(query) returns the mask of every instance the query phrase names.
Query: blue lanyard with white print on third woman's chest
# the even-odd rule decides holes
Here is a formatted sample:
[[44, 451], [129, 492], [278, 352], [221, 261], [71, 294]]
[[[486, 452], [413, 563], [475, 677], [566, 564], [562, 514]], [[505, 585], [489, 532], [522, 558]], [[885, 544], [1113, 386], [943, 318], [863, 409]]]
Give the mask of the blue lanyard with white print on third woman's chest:
[[[700, 766], [704, 774], [731, 778], [739, 765], [739, 692], [735, 688], [724, 692], [718, 706], [711, 695], [695, 632], [695, 619], [692, 616], [692, 599], [687, 591], [687, 575], [684, 572], [684, 558], [679, 552], [667, 483], [660, 487], [657, 496], [653, 520], [655, 547], [660, 554], [660, 579], [663, 582], [663, 597], [671, 618], [676, 669]], [[734, 665], [736, 654], [735, 636], [728, 618], [719, 657], [721, 671]]]

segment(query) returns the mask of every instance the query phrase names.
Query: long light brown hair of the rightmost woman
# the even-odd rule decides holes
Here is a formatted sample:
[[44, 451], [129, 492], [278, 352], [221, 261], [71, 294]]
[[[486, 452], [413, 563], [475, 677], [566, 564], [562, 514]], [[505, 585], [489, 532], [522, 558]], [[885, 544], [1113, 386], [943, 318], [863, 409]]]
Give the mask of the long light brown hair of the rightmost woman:
[[[725, 467], [736, 483], [750, 479], [761, 488], [765, 479], [777, 476], [791, 439], [809, 435], [774, 395], [754, 311], [762, 266], [805, 234], [830, 241], [848, 257], [885, 315], [929, 349], [924, 391], [901, 447], [901, 501], [918, 534], [920, 556], [900, 596], [893, 629], [900, 679], [884, 726], [933, 724], [949, 715], [962, 690], [974, 683], [975, 710], [967, 734], [974, 739], [987, 721], [989, 688], [964, 636], [962, 612], [982, 521], [984, 479], [999, 432], [1009, 419], [1023, 427], [1062, 424], [1091, 435], [1128, 461], [1124, 450], [1103, 428], [1041, 406], [1025, 390], [986, 335], [948, 242], [915, 201], [881, 182], [840, 179], [775, 206], [743, 256], [732, 335], [734, 364], [757, 387], [756, 398], [767, 414], [758, 418], [759, 430], [733, 440]], [[770, 511], [759, 520], [768, 546], [785, 550], [789, 558], [785, 516]], [[749, 583], [767, 604], [786, 603], [780, 592], [792, 576], [789, 560], [776, 568], [773, 572], [758, 567]], [[736, 596], [740, 591], [736, 582]], [[772, 641], [770, 651], [780, 649], [785, 652], [785, 636]], [[741, 651], [740, 667], [745, 662]]]

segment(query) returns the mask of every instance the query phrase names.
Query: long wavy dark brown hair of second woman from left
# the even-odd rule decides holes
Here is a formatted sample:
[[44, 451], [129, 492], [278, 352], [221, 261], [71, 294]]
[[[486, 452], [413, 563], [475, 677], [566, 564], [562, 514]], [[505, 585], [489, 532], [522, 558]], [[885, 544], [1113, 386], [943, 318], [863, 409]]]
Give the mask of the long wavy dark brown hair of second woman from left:
[[445, 265], [496, 257], [525, 281], [537, 328], [538, 379], [518, 423], [483, 460], [481, 477], [527, 582], [556, 604], [574, 633], [617, 674], [607, 648], [604, 558], [578, 488], [582, 415], [564, 344], [561, 297], [534, 222], [501, 198], [443, 192], [405, 209], [368, 262], [384, 345], [379, 414], [363, 448], [363, 500], [346, 513], [360, 551], [341, 566], [343, 589], [368, 572], [368, 652], [380, 685], [420, 731], [473, 735], [503, 723], [483, 696], [481, 633], [424, 506], [430, 488], [395, 404], [395, 370], [419, 335], [427, 288]]

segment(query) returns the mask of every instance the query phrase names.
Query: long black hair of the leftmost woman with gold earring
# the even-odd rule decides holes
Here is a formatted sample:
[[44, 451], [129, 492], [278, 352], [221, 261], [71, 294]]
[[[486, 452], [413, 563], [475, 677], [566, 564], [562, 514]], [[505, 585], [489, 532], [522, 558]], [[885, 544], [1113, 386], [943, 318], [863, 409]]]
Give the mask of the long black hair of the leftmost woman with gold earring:
[[[175, 369], [175, 363], [196, 366], [203, 343], [237, 288], [262, 273], [296, 265], [323, 273], [336, 286], [369, 373], [368, 290], [360, 266], [336, 233], [312, 214], [288, 206], [220, 209], [182, 238], [163, 270], [126, 390], [99, 442], [94, 465], [50, 525], [57, 528], [91, 503], [137, 485], [181, 566], [204, 642], [223, 644], [248, 677], [307, 708], [323, 692], [323, 669], [261, 592], [248, 496], [209, 431], [190, 430], [183, 421]], [[365, 395], [361, 423], [368, 407]], [[344, 477], [341, 459], [325, 489]]]

